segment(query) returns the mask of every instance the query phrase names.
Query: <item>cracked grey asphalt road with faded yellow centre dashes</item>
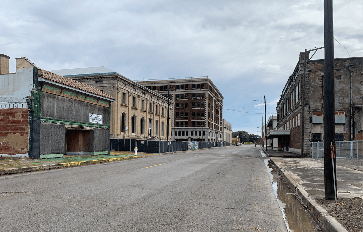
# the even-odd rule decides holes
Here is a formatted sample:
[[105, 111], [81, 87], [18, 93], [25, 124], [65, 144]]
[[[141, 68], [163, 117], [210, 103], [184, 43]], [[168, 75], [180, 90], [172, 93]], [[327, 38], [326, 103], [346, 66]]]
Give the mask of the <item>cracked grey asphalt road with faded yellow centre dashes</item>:
[[0, 176], [0, 210], [0, 231], [287, 231], [254, 145]]

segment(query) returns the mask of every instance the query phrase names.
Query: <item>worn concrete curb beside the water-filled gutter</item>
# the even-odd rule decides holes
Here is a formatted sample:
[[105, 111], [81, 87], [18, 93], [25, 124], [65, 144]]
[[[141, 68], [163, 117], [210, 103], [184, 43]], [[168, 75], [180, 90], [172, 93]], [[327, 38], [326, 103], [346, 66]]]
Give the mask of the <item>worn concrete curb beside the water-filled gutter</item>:
[[318, 202], [309, 197], [309, 194], [305, 191], [305, 189], [298, 184], [299, 178], [293, 174], [284, 172], [271, 158], [270, 161], [274, 165], [276, 171], [284, 179], [287, 186], [294, 191], [301, 204], [306, 208], [311, 215], [311, 218], [314, 219], [315, 223], [319, 225], [323, 232], [348, 232], [337, 220], [335, 220], [335, 218], [327, 215], [327, 211], [323, 207], [319, 206]]

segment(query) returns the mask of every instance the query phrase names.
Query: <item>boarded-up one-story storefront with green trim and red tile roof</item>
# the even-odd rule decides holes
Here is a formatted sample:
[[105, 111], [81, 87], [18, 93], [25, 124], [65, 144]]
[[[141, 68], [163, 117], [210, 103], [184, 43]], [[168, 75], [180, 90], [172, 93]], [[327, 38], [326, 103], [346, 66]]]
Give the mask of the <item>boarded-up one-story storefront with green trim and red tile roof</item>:
[[[0, 54], [0, 154], [34, 159], [110, 152], [110, 105], [89, 85]], [[7, 65], [4, 63], [7, 62]]]

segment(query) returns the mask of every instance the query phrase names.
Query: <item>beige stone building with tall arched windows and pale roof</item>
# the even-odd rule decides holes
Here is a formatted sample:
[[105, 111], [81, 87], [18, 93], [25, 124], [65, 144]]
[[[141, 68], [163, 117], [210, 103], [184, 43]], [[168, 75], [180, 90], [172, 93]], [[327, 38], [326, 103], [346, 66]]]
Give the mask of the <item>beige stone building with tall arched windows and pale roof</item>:
[[[117, 99], [116, 104], [112, 104], [110, 108], [111, 139], [167, 140], [166, 97], [106, 67], [52, 72], [91, 85]], [[170, 115], [173, 106], [174, 102], [170, 101]], [[169, 125], [171, 140], [171, 119]]]

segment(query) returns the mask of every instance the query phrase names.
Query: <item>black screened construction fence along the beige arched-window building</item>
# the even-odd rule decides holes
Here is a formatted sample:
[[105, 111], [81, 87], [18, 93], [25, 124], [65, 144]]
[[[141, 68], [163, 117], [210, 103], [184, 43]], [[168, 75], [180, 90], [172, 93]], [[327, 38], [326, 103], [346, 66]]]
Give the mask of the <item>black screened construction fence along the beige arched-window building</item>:
[[134, 151], [142, 153], [166, 153], [175, 151], [191, 151], [212, 147], [227, 147], [231, 143], [222, 142], [184, 142], [184, 141], [155, 141], [136, 139], [110, 139], [111, 151]]

